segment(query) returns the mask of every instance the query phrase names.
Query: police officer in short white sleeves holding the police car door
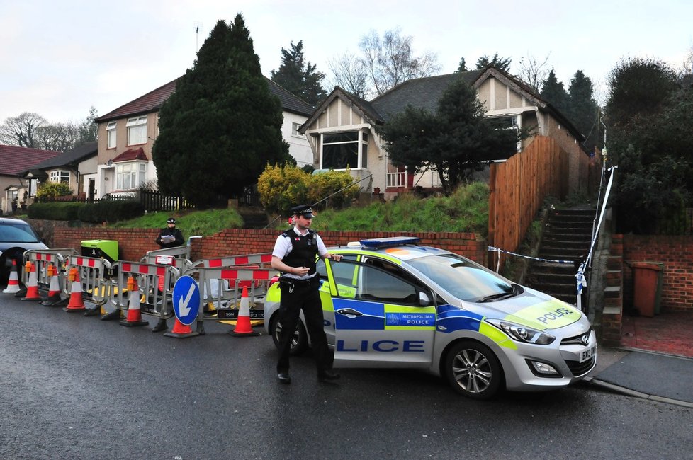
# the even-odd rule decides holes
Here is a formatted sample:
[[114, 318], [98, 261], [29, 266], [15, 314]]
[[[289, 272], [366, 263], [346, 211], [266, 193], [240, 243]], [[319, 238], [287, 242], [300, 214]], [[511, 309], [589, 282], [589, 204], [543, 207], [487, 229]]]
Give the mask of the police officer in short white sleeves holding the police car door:
[[333, 381], [339, 374], [331, 370], [332, 360], [327, 348], [322, 304], [320, 302], [320, 277], [315, 271], [317, 256], [339, 262], [338, 254], [327, 252], [325, 243], [315, 231], [310, 230], [313, 214], [312, 208], [299, 205], [291, 208], [294, 226], [277, 237], [272, 251], [272, 268], [282, 273], [279, 281], [281, 301], [279, 304], [279, 355], [277, 361], [277, 379], [283, 384], [290, 384], [289, 352], [298, 316], [303, 309], [305, 326], [310, 335], [312, 350], [317, 364], [317, 379]]

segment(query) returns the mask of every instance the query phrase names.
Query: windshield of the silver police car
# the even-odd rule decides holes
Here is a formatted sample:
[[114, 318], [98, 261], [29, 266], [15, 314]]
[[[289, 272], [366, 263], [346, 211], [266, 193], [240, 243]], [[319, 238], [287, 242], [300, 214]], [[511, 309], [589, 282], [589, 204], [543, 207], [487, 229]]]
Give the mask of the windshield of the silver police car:
[[494, 272], [456, 254], [429, 255], [408, 261], [458, 299], [479, 302], [519, 293]]

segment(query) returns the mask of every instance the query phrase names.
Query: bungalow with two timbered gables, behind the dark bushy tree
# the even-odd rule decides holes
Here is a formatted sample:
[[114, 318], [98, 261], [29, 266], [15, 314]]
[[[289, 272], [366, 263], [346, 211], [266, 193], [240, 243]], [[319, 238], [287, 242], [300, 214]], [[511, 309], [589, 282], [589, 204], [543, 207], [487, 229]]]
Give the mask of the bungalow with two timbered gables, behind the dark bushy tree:
[[404, 167], [393, 166], [375, 128], [407, 105], [435, 113], [446, 88], [460, 78], [476, 89], [485, 117], [502, 118], [509, 127], [529, 129], [531, 136], [518, 144], [518, 151], [536, 136], [555, 139], [570, 158], [568, 188], [571, 192], [580, 190], [580, 169], [585, 168], [584, 157], [588, 155], [581, 145], [582, 134], [523, 81], [492, 66], [408, 80], [370, 101], [337, 86], [300, 128], [310, 142], [313, 166], [317, 170], [345, 170], [348, 165], [355, 180], [371, 176], [361, 181], [363, 192], [379, 189], [385, 198], [415, 187], [441, 188], [437, 173], [410, 174]]

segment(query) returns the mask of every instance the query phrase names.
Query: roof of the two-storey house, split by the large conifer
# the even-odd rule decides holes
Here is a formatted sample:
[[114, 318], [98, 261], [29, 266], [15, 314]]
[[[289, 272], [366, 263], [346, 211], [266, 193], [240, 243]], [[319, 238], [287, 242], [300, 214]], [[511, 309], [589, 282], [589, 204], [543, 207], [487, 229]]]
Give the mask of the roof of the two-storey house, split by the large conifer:
[[[279, 98], [283, 110], [297, 113], [298, 115], [305, 115], [306, 117], [312, 114], [313, 109], [310, 104], [305, 102], [305, 100], [294, 96], [292, 93], [289, 93], [286, 91], [286, 89], [274, 83], [274, 81], [271, 81], [267, 77], [265, 77], [265, 79], [267, 80], [267, 84], [269, 86], [269, 92]], [[101, 117], [94, 119], [94, 122], [101, 123], [116, 120], [118, 118], [133, 117], [135, 115], [145, 115], [147, 113], [156, 112], [162, 108], [162, 105], [164, 105], [164, 102], [169, 98], [169, 96], [176, 91], [176, 82], [178, 80], [179, 79], [169, 81], [169, 83], [165, 84], [164, 86], [159, 86], [159, 88], [150, 91], [144, 96], [131, 100], [125, 105], [120, 105], [120, 107], [116, 108], [116, 110], [111, 110], [111, 112], [106, 113], [106, 115], [102, 115]]]

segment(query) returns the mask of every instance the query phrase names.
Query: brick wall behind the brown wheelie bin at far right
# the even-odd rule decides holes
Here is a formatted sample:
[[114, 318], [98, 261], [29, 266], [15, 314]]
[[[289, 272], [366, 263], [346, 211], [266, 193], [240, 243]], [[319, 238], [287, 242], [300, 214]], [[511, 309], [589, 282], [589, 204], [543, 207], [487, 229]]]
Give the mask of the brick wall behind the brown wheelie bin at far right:
[[693, 236], [624, 235], [624, 306], [633, 305], [633, 262], [664, 264], [661, 309], [693, 312]]

